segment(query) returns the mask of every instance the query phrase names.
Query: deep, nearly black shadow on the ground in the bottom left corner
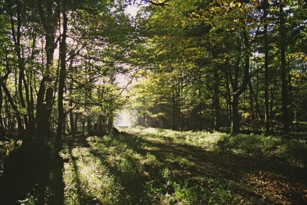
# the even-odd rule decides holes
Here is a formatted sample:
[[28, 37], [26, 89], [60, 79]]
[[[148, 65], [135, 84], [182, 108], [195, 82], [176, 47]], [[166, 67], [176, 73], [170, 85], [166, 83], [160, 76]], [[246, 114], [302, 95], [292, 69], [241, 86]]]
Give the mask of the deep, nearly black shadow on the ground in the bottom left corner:
[[[4, 161], [0, 177], [0, 203], [63, 204], [62, 158], [41, 139], [22, 145]], [[30, 200], [31, 199], [31, 200]]]

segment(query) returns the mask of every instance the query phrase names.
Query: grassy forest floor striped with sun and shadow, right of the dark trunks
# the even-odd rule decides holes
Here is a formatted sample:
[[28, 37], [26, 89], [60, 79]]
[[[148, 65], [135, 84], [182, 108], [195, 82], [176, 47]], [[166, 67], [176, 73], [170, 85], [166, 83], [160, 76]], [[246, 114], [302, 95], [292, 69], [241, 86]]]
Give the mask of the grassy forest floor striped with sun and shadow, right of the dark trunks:
[[121, 131], [65, 139], [66, 205], [307, 203], [303, 139]]

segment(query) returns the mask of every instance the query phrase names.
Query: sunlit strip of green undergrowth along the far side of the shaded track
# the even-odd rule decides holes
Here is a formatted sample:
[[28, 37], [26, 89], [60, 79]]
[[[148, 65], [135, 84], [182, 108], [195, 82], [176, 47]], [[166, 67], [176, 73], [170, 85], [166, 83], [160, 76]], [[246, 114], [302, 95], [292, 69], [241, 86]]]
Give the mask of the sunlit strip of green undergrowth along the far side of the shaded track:
[[[125, 131], [125, 129], [119, 129]], [[232, 154], [244, 156], [276, 158], [298, 166], [307, 166], [307, 158], [305, 157], [307, 155], [307, 140], [302, 138], [285, 139], [278, 136], [262, 136], [253, 133], [230, 136], [219, 132], [178, 132], [141, 126], [128, 128], [128, 132], [159, 137], [179, 144], [201, 147], [205, 150], [231, 152]]]

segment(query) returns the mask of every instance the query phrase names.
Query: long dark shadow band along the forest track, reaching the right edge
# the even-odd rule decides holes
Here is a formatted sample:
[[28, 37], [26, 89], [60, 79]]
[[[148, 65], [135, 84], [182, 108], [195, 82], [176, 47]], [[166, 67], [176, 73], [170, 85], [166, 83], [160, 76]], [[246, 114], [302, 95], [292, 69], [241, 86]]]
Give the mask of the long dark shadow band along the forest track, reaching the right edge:
[[[270, 171], [288, 177], [295, 182], [307, 183], [306, 167], [282, 164], [265, 158], [238, 156], [229, 152], [208, 151], [192, 145], [160, 140], [156, 137], [150, 137], [149, 139], [128, 133], [125, 133], [124, 136], [117, 137], [117, 139], [142, 154], [150, 152], [162, 159], [165, 159], [169, 153], [188, 157], [190, 161], [194, 162], [196, 170], [202, 166], [203, 168], [213, 168], [214, 171], [212, 173], [214, 175], [218, 174], [229, 179], [240, 178], [245, 173]], [[156, 149], [145, 150], [137, 144], [147, 144], [148, 146], [156, 147]]]

